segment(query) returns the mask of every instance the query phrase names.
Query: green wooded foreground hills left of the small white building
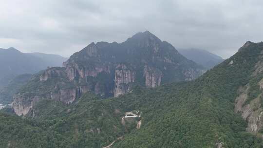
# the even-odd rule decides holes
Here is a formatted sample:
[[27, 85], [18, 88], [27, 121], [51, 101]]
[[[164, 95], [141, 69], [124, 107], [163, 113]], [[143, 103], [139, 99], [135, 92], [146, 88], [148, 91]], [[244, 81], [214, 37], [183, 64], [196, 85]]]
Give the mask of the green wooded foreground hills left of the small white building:
[[[4, 121], [0, 128], [5, 129], [0, 129], [0, 147], [10, 143], [11, 148], [102, 148], [136, 127], [132, 121], [122, 125], [121, 118], [125, 114], [118, 106], [121, 105], [113, 100], [86, 93], [72, 105], [42, 100], [24, 120], [0, 112], [0, 121]], [[26, 136], [20, 138], [8, 132], [11, 128], [17, 128], [18, 135]], [[38, 135], [31, 133], [38, 130]], [[37, 143], [42, 136], [43, 141]]]

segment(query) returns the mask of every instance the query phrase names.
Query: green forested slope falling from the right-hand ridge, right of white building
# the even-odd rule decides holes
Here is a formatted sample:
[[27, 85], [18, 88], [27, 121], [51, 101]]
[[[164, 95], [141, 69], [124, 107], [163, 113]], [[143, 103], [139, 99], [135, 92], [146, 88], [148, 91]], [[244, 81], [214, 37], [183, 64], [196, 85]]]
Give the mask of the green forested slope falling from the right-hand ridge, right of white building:
[[[262, 57], [263, 42], [247, 42], [236, 55], [197, 80], [179, 88], [166, 85], [151, 96], [143, 95], [141, 102], [148, 98], [154, 104], [144, 109], [138, 108], [141, 102], [134, 105], [144, 112], [142, 128], [126, 135], [113, 148], [262, 148], [261, 111], [251, 114], [256, 118], [252, 127], [257, 127], [257, 132], [251, 132], [249, 119], [247, 127], [245, 120], [234, 113], [238, 90], [254, 79]], [[260, 102], [257, 105], [261, 107]], [[154, 112], [158, 115], [153, 117]], [[245, 131], [257, 133], [257, 137]]]

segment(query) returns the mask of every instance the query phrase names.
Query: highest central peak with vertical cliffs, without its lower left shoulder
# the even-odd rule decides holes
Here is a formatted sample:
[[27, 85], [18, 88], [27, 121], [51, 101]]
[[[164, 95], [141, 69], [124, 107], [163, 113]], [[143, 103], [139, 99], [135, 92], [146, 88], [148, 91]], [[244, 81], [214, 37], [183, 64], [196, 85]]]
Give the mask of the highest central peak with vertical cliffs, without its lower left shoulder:
[[[71, 56], [64, 66], [71, 80], [89, 85], [95, 93], [105, 96], [129, 92], [133, 84], [156, 87], [193, 80], [203, 73], [201, 66], [148, 31], [120, 44], [92, 43]], [[101, 81], [106, 75], [106, 81]]]

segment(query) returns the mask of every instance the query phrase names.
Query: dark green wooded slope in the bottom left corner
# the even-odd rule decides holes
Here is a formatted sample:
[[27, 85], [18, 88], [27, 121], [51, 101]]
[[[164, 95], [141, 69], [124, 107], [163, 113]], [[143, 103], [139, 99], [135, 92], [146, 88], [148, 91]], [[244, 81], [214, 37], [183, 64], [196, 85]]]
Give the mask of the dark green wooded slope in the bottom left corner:
[[68, 148], [67, 145], [47, 123], [0, 112], [0, 148]]

